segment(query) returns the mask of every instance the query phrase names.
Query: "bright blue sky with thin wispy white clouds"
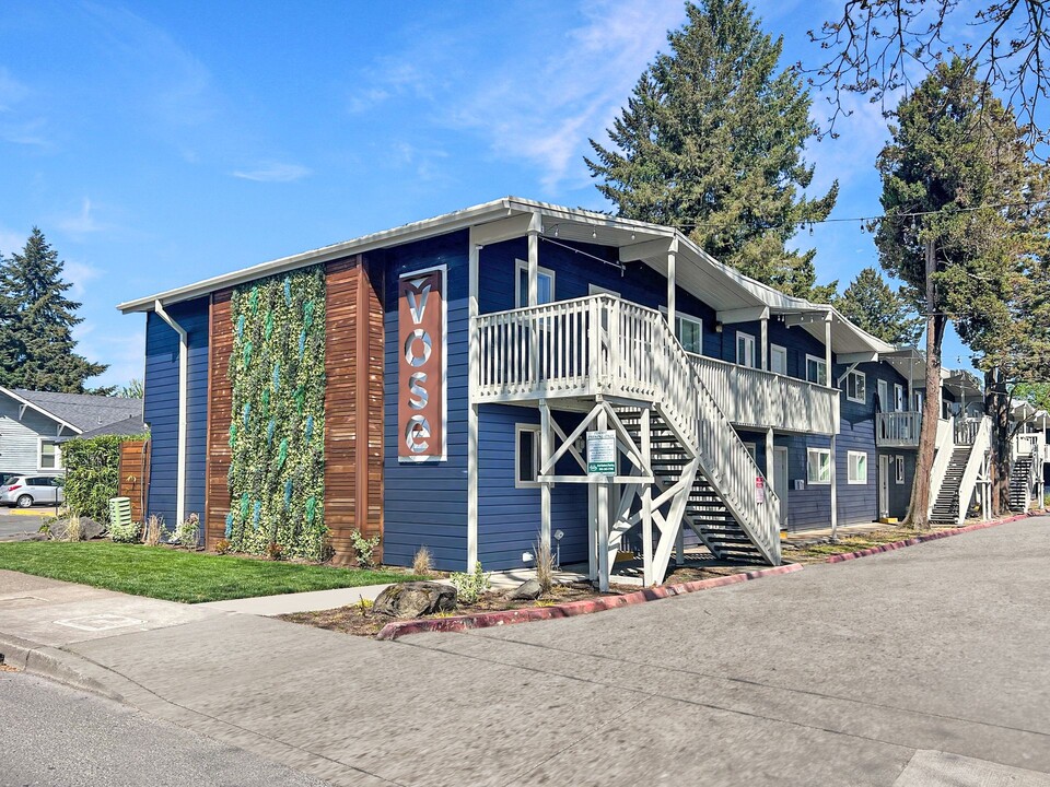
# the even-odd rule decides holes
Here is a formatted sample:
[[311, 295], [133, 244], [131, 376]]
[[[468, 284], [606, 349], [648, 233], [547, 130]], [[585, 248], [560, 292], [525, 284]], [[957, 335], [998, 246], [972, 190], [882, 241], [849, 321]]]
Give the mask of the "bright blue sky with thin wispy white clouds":
[[[784, 63], [833, 2], [756, 5]], [[38, 225], [83, 302], [80, 351], [142, 376], [143, 319], [114, 306], [514, 195], [607, 209], [605, 141], [679, 0], [58, 2], [0, 13], [0, 252]], [[879, 108], [814, 142], [832, 218], [879, 212]], [[816, 97], [814, 115], [825, 106]], [[876, 262], [860, 222], [818, 226], [820, 281]], [[954, 334], [945, 363], [965, 349]]]

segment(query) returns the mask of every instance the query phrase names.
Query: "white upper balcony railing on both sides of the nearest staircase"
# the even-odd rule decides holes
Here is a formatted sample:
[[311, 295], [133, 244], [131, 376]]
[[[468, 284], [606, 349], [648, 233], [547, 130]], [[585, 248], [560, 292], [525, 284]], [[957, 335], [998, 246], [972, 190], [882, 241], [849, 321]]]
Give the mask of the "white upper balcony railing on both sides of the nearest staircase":
[[[652, 366], [654, 321], [660, 315], [618, 298], [596, 297], [479, 316], [474, 400], [606, 393], [661, 401], [665, 391]], [[737, 426], [839, 431], [839, 393], [833, 389], [701, 355], [688, 357]]]

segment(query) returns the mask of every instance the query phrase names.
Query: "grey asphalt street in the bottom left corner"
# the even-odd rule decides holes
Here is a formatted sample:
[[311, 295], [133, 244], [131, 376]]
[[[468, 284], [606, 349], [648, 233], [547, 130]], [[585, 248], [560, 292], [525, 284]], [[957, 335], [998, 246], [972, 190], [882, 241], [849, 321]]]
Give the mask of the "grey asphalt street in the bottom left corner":
[[103, 697], [0, 672], [0, 787], [324, 783]]

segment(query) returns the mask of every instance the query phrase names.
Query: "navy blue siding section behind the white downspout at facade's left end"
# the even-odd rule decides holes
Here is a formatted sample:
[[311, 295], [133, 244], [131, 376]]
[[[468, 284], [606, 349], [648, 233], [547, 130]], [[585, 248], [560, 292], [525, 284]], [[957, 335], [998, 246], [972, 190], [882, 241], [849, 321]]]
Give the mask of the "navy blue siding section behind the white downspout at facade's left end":
[[[188, 333], [186, 515], [205, 512], [208, 438], [208, 298], [167, 307]], [[148, 514], [176, 524], [178, 463], [178, 334], [153, 312], [145, 322], [145, 401], [143, 418], [150, 425], [150, 491]]]

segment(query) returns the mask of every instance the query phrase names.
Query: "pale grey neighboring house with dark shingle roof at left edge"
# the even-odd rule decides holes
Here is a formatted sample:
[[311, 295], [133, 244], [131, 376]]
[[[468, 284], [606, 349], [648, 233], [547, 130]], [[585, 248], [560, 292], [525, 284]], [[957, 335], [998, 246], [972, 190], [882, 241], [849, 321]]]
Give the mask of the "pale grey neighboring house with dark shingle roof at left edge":
[[[137, 424], [138, 432], [120, 431]], [[59, 471], [61, 443], [100, 430], [142, 431], [142, 400], [0, 387], [0, 469]]]

